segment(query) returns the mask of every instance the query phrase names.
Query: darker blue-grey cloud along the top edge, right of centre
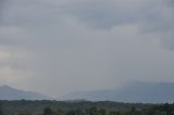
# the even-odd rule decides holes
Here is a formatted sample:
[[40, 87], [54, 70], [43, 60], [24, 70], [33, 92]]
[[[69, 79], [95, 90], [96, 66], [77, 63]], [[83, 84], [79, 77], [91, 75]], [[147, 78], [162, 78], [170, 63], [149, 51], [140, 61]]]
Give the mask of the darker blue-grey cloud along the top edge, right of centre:
[[64, 5], [64, 10], [92, 27], [110, 29], [119, 25], [156, 22], [160, 15], [157, 10], [163, 5], [162, 0], [74, 0]]

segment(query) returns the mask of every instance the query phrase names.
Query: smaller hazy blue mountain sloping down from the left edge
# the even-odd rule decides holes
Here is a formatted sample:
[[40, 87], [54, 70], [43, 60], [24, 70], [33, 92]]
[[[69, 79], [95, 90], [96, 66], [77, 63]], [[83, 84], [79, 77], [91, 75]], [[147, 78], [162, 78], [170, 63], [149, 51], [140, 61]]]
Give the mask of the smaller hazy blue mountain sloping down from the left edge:
[[0, 87], [0, 100], [49, 100], [51, 98], [32, 91], [23, 91], [9, 86]]

